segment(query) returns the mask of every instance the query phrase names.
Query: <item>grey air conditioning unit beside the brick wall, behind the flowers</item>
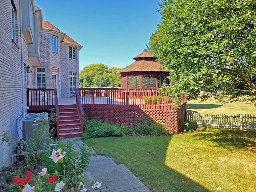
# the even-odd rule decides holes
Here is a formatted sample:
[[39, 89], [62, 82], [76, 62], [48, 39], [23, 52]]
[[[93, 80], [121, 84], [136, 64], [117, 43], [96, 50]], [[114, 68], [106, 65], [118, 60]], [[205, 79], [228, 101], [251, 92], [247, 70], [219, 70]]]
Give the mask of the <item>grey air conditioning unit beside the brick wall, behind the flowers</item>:
[[[43, 113], [42, 113], [43, 114]], [[33, 130], [36, 128], [36, 122], [39, 120], [48, 120], [48, 113], [44, 113], [45, 115], [41, 117], [40, 115], [38, 116], [30, 116], [26, 117], [22, 121], [22, 136], [23, 140], [27, 141], [27, 147], [30, 147], [30, 143], [28, 142], [30, 139], [33, 137]], [[38, 143], [38, 149], [42, 149], [42, 145], [46, 142], [46, 138], [49, 136], [49, 125], [47, 124], [46, 127], [44, 128], [44, 137], [43, 140], [39, 141]], [[32, 146], [31, 146], [32, 147]], [[33, 146], [34, 147], [34, 146]]]

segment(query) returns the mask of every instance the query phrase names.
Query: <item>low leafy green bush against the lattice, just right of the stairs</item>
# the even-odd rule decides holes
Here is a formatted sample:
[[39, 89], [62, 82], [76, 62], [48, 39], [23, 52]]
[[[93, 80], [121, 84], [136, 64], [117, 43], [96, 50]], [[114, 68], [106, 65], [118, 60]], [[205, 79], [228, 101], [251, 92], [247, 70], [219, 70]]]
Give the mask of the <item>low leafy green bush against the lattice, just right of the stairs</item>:
[[118, 125], [102, 123], [96, 119], [84, 119], [84, 133], [82, 134], [82, 139], [108, 136], [124, 136], [124, 133]]

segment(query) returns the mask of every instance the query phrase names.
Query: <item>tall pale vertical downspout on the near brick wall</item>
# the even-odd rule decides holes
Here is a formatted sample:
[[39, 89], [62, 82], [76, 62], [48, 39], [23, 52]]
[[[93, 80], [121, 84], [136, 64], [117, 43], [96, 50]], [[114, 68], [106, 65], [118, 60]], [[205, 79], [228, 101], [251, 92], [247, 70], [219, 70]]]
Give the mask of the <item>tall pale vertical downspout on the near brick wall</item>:
[[22, 0], [20, 0], [20, 51], [21, 51], [21, 77], [22, 77], [22, 116], [25, 114], [25, 88], [24, 88], [24, 56], [23, 56], [23, 32], [22, 32]]

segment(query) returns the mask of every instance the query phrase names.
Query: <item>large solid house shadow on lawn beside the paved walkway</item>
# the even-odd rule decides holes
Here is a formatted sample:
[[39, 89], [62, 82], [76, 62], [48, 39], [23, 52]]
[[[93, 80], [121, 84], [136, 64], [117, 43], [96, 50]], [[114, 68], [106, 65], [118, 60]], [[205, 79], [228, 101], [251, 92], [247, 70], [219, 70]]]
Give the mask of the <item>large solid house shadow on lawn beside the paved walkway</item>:
[[[182, 173], [166, 166], [166, 150], [172, 136], [162, 137], [108, 137], [87, 139], [88, 146], [98, 153], [118, 151], [118, 156], [112, 157], [117, 164], [124, 164], [150, 190], [160, 192], [210, 192], [204, 186], [191, 180]], [[100, 171], [98, 174], [101, 174]], [[121, 180], [112, 181], [110, 190], [120, 185]], [[124, 177], [121, 175], [120, 178]], [[124, 179], [125, 182], [127, 182]], [[102, 188], [104, 188], [104, 180]], [[113, 190], [115, 191], [115, 190]], [[137, 190], [136, 190], [137, 191]]]

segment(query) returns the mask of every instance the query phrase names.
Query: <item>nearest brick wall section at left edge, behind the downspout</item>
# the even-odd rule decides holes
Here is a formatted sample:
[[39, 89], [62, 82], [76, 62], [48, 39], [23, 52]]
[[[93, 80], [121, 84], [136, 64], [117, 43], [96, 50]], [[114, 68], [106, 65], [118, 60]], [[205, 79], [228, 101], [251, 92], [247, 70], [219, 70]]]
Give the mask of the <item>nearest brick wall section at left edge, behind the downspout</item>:
[[[20, 37], [20, 4], [14, 0], [17, 15], [17, 43], [12, 41], [12, 3], [1, 0], [0, 6], [0, 134], [8, 131], [12, 136], [12, 145], [0, 140], [0, 168], [10, 165], [10, 155], [14, 145], [22, 137], [22, 64]], [[22, 38], [23, 40], [23, 38]], [[23, 50], [27, 50], [26, 43]], [[28, 60], [24, 59], [27, 64]], [[26, 67], [26, 66], [25, 66]], [[0, 136], [1, 138], [1, 136]]]

